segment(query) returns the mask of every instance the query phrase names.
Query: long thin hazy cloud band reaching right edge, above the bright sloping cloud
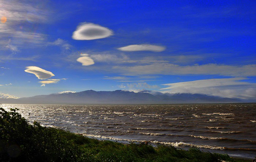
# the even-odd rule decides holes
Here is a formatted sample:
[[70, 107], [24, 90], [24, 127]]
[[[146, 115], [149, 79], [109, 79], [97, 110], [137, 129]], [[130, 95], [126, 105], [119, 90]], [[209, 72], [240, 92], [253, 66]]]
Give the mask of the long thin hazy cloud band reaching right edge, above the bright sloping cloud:
[[136, 66], [113, 66], [124, 75], [149, 75], [149, 74], [164, 74], [164, 75], [187, 75], [187, 74], [206, 74], [206, 75], [221, 75], [221, 76], [256, 76], [255, 65], [223, 65], [209, 63], [205, 65], [188, 65], [180, 66], [172, 63], [152, 63], [150, 65]]

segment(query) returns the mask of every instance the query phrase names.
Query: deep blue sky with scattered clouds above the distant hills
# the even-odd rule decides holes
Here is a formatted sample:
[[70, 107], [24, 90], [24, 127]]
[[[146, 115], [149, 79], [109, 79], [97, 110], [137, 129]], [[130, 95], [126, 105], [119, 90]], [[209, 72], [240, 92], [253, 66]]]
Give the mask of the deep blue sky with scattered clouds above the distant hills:
[[256, 1], [0, 0], [0, 96], [256, 97]]

